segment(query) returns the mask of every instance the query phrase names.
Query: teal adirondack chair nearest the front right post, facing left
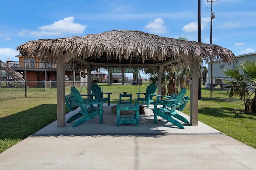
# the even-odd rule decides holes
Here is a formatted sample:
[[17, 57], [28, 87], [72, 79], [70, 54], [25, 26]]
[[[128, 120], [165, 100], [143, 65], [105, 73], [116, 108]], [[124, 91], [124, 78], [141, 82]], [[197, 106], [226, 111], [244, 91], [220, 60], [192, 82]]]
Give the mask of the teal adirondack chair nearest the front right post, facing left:
[[[177, 121], [176, 119], [179, 119], [180, 121], [183, 121], [184, 123], [189, 123], [188, 120], [179, 115], [176, 111], [178, 106], [181, 106], [183, 104], [183, 97], [186, 94], [186, 88], [180, 91], [180, 93], [176, 96], [175, 99], [170, 99], [168, 97], [170, 96], [160, 96], [156, 95], [156, 102], [154, 102], [154, 123], [157, 124], [157, 116], [162, 117], [163, 119], [166, 119], [170, 123], [178, 126], [181, 129], [184, 129], [184, 126]], [[160, 100], [160, 98], [164, 98]], [[157, 107], [158, 105], [163, 105], [163, 107]], [[170, 107], [167, 108], [167, 107]], [[175, 117], [176, 119], [174, 119]]]

